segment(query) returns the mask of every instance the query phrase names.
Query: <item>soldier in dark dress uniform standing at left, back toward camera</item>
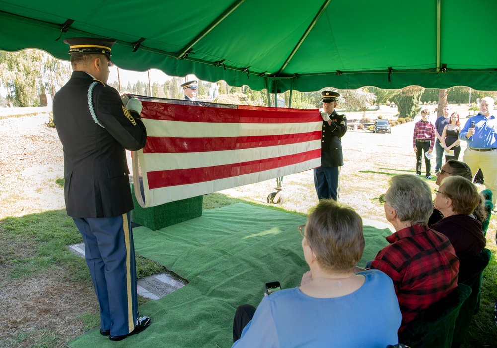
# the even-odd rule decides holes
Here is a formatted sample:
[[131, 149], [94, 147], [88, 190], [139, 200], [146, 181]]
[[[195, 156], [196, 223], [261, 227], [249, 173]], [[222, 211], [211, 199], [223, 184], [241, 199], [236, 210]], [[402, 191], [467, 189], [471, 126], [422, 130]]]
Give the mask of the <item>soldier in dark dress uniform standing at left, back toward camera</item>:
[[71, 79], [54, 97], [64, 151], [67, 214], [83, 236], [85, 258], [100, 305], [100, 334], [112, 341], [145, 330], [136, 295], [128, 150], [145, 146], [142, 104], [107, 85], [115, 40], [70, 38]]

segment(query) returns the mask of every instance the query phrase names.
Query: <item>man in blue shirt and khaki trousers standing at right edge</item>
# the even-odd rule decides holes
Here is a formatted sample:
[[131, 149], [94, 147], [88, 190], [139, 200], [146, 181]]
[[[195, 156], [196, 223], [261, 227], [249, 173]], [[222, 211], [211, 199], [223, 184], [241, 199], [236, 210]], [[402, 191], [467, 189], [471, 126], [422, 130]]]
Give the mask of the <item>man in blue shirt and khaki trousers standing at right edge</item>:
[[[459, 139], [468, 142], [463, 162], [473, 176], [481, 168], [485, 186], [492, 191], [492, 203], [497, 198], [497, 120], [493, 116], [494, 99], [486, 96], [480, 101], [480, 112], [471, 117], [459, 132]], [[495, 208], [494, 208], [495, 209]]]

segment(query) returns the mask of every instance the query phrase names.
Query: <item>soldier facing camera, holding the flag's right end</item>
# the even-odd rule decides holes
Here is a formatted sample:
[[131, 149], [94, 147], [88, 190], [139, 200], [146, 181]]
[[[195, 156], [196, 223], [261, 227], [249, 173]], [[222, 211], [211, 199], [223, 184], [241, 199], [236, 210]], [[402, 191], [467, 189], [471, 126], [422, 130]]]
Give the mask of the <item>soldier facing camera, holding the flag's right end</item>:
[[340, 167], [343, 166], [341, 137], [347, 131], [347, 118], [335, 111], [337, 92], [325, 90], [323, 96], [323, 127], [321, 133], [321, 167], [314, 169], [314, 186], [318, 199], [338, 200]]

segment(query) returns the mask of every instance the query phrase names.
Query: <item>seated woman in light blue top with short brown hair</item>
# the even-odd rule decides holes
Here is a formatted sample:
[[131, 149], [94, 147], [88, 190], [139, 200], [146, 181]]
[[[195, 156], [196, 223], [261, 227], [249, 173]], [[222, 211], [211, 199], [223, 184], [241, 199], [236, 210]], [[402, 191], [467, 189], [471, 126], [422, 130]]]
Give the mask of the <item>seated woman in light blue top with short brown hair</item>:
[[[310, 271], [300, 287], [238, 307], [233, 347], [368, 347], [398, 343], [401, 312], [392, 280], [378, 270], [354, 274], [364, 251], [362, 219], [321, 200], [301, 226]], [[253, 317], [253, 318], [252, 318]]]

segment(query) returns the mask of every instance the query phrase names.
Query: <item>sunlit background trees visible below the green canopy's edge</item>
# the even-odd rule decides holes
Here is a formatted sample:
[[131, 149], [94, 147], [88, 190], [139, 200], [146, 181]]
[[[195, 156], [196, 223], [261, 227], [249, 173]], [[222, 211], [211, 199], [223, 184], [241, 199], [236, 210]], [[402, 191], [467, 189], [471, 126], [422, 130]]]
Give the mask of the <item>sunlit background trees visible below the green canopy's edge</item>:
[[[0, 106], [38, 106], [40, 94], [55, 95], [71, 76], [69, 62], [53, 58], [46, 52], [39, 50], [24, 50], [20, 52], [0, 52], [0, 87], [6, 90], [6, 96], [0, 96]], [[109, 85], [119, 91], [137, 95], [153, 96], [157, 98], [182, 99], [184, 97], [181, 84], [184, 78], [172, 77], [165, 83], [137, 81], [126, 86], [119, 86], [117, 81]], [[216, 83], [217, 97], [212, 98], [210, 88], [213, 84], [200, 81], [197, 96], [203, 100], [219, 103], [232, 103], [242, 105], [267, 105], [265, 90], [254, 91], [248, 86], [233, 87], [224, 81]], [[366, 112], [373, 104], [394, 102], [399, 111], [399, 117], [414, 118], [420, 111], [421, 103], [468, 103], [469, 87], [452, 87], [449, 89], [425, 89], [419, 86], [408, 86], [403, 89], [381, 89], [377, 87], [363, 87], [356, 90], [337, 90], [323, 88], [322, 90], [336, 90], [341, 97], [338, 99], [338, 108], [345, 111]], [[321, 91], [302, 93], [293, 91], [292, 108], [310, 109], [321, 107]], [[496, 92], [482, 92], [471, 90], [471, 101], [486, 95], [497, 97]], [[271, 96], [271, 104], [275, 104], [275, 95]], [[290, 105], [290, 91], [278, 94], [278, 105]]]

